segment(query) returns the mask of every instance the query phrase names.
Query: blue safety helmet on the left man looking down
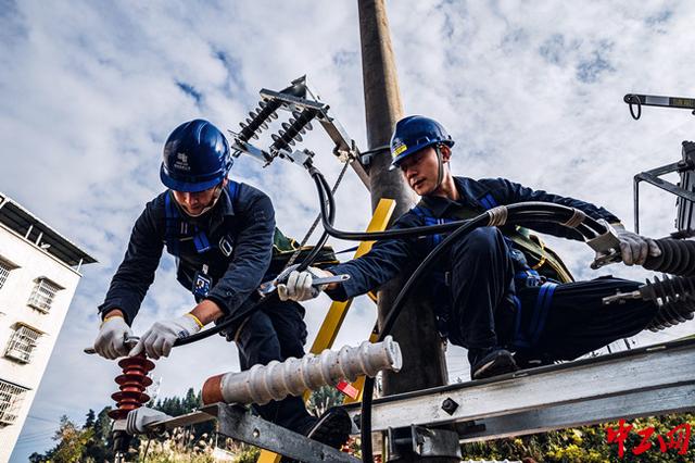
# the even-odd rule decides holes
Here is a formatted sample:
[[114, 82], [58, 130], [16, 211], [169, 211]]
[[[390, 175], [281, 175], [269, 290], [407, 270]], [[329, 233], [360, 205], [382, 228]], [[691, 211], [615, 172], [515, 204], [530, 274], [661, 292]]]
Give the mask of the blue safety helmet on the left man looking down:
[[166, 139], [160, 178], [176, 191], [203, 191], [220, 184], [232, 164], [223, 133], [197, 118], [176, 127]]

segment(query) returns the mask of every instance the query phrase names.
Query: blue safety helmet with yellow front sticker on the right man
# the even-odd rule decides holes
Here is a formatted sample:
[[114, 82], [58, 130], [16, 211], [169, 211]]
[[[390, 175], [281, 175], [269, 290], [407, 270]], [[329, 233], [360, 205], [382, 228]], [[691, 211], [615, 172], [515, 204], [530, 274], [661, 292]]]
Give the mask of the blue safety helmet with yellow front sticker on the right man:
[[395, 124], [391, 136], [391, 157], [393, 160], [390, 170], [396, 168], [401, 161], [422, 148], [439, 143], [447, 147], [454, 146], [452, 136], [442, 124], [420, 115], [403, 117]]

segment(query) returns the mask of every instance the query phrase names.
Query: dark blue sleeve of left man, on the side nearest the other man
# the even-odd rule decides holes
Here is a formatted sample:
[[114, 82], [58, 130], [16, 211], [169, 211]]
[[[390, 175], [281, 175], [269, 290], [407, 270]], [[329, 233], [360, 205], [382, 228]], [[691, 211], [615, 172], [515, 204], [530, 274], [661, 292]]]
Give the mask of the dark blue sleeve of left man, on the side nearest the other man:
[[241, 232], [223, 277], [207, 295], [226, 314], [233, 312], [256, 290], [273, 256], [275, 211], [264, 193], [251, 200], [238, 214]]

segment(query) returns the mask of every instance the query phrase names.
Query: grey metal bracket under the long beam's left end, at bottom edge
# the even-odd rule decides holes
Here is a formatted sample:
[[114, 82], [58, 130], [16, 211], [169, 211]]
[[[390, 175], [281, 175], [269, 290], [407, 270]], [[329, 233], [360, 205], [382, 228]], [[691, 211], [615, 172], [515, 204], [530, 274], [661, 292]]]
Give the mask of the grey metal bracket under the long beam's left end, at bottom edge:
[[399, 461], [415, 454], [422, 458], [462, 459], [458, 434], [446, 429], [430, 429], [424, 426], [387, 431], [389, 441], [389, 461]]

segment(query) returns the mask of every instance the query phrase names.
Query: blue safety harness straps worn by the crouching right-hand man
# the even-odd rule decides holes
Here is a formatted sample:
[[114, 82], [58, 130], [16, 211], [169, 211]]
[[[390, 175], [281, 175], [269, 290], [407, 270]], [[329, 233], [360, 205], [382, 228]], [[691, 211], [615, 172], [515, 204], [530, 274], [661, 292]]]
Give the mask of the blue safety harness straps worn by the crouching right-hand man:
[[[492, 193], [486, 192], [478, 198], [478, 203], [485, 210], [497, 207]], [[439, 225], [454, 222], [457, 220], [472, 218], [479, 214], [478, 211], [471, 208], [457, 208], [457, 216], [450, 217], [435, 217], [432, 211], [420, 201], [415, 208], [410, 210], [415, 215], [420, 217], [425, 225]], [[540, 238], [535, 235], [531, 235], [530, 232], [522, 227], [515, 227], [509, 229], [502, 229], [507, 247], [509, 249], [509, 256], [515, 263], [515, 285], [517, 288], [536, 287], [539, 286], [539, 295], [533, 308], [533, 315], [528, 330], [521, 327], [521, 301], [514, 295], [514, 303], [516, 306], [516, 315], [514, 321], [514, 335], [511, 340], [511, 347], [514, 348], [529, 348], [534, 346], [543, 329], [545, 328], [545, 321], [547, 320], [548, 309], [553, 302], [553, 295], [558, 283], [570, 283], [573, 278], [559, 256], [553, 252], [549, 248], [545, 247]], [[428, 248], [431, 250], [439, 245], [443, 235], [429, 235], [425, 239], [428, 240]], [[517, 249], [518, 248], [518, 249]], [[529, 261], [534, 262], [531, 266]], [[448, 285], [447, 275], [441, 271], [432, 274], [433, 288], [440, 285]], [[442, 293], [445, 291], [433, 291], [435, 293]], [[446, 335], [447, 328], [447, 308], [437, 306], [437, 316], [439, 322], [439, 330], [442, 335]]]

